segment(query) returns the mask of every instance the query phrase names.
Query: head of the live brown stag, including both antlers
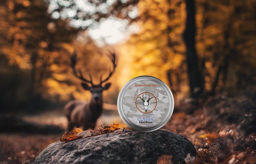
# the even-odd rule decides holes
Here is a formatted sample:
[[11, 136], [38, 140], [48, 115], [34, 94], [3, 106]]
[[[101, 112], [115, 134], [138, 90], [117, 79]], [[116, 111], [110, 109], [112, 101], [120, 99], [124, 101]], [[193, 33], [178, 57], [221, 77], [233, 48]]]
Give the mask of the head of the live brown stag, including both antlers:
[[[104, 83], [105, 81], [107, 81], [111, 77], [111, 75], [114, 73], [115, 68], [116, 68], [116, 55], [115, 55], [115, 53], [110, 53], [108, 55], [108, 57], [112, 61], [113, 70], [111, 71], [111, 69], [110, 69], [108, 77], [106, 77], [103, 80], [102, 80], [102, 74], [101, 74], [101, 76], [100, 76], [100, 84], [98, 84], [98, 85], [94, 85], [93, 84], [91, 74], [88, 74], [89, 75], [89, 79], [86, 79], [83, 76], [83, 74], [82, 74], [81, 68], [79, 69], [79, 72], [77, 72], [75, 70], [75, 65], [77, 63], [77, 52], [74, 51], [71, 54], [71, 57], [70, 57], [71, 68], [73, 69], [74, 75], [76, 77], [78, 77], [79, 79], [84, 81], [84, 83], [81, 83], [81, 85], [82, 85], [82, 87], [85, 90], [89, 90], [91, 92], [91, 101], [94, 102], [94, 103], [102, 103], [102, 91], [109, 89], [109, 87], [111, 85], [111, 83], [108, 83], [108, 84], [102, 86], [102, 83]], [[88, 84], [90, 84], [90, 86]]]

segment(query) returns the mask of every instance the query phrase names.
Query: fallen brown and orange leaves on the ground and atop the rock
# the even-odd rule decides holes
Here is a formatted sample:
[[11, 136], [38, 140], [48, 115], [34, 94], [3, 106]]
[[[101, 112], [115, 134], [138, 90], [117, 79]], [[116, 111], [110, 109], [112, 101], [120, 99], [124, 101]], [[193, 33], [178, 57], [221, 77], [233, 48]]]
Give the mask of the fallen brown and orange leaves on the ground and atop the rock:
[[[196, 110], [191, 107], [194, 104], [181, 104], [163, 129], [179, 133], [193, 143], [203, 159], [194, 163], [256, 164], [254, 90], [232, 97], [226, 93], [210, 97], [197, 104]], [[113, 124], [95, 130], [78, 129], [73, 137], [79, 139], [124, 130], [120, 124]], [[61, 135], [0, 133], [0, 163], [32, 163], [35, 156], [48, 144], [58, 141], [58, 137]], [[63, 141], [68, 140], [68, 137], [62, 137]], [[158, 164], [170, 164], [171, 158], [163, 155], [159, 157]], [[185, 161], [189, 163], [190, 159], [187, 156]]]

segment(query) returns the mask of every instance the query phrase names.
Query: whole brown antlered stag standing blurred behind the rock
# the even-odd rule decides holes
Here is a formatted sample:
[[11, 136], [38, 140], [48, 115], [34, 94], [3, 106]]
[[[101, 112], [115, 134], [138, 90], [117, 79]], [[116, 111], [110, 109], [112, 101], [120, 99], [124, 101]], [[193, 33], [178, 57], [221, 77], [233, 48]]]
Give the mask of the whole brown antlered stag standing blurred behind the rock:
[[[110, 53], [108, 56], [113, 64], [113, 70], [109, 71], [108, 77], [102, 80], [102, 74], [100, 76], [100, 84], [94, 85], [92, 81], [91, 74], [89, 75], [89, 79], [86, 79], [81, 71], [81, 68], [77, 72], [75, 69], [75, 65], [77, 64], [77, 53], [74, 51], [71, 54], [71, 68], [73, 70], [73, 74], [81, 79], [84, 83], [81, 83], [82, 87], [85, 90], [89, 90], [91, 92], [91, 100], [90, 101], [80, 101], [73, 100], [70, 101], [65, 107], [64, 112], [66, 117], [68, 118], [68, 130], [72, 130], [74, 126], [82, 126], [83, 129], [94, 129], [97, 119], [100, 117], [102, 113], [102, 91], [109, 89], [111, 83], [108, 83], [102, 87], [102, 84], [106, 82], [114, 73], [116, 68], [116, 55], [115, 53]], [[90, 84], [90, 86], [88, 85]]]

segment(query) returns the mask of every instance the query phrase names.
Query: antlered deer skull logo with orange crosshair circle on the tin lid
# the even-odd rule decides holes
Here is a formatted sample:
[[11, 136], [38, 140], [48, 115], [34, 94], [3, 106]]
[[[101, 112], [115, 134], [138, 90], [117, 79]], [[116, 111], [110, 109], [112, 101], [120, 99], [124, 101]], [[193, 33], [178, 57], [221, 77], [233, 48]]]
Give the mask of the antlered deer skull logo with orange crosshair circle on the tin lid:
[[[149, 92], [143, 92], [138, 95], [138, 90], [135, 91], [134, 93], [134, 102], [136, 103], [136, 107], [138, 108], [139, 111], [142, 113], [150, 113], [156, 108], [156, 104], [158, 102], [158, 91], [155, 88], [155, 94], [153, 95], [152, 93]], [[144, 99], [144, 94], [145, 94], [145, 99]], [[137, 104], [143, 104], [144, 111], [141, 110], [142, 105], [137, 105]], [[152, 104], [152, 105], [150, 105]], [[155, 104], [155, 105], [153, 105]], [[149, 106], [150, 105], [150, 106]]]

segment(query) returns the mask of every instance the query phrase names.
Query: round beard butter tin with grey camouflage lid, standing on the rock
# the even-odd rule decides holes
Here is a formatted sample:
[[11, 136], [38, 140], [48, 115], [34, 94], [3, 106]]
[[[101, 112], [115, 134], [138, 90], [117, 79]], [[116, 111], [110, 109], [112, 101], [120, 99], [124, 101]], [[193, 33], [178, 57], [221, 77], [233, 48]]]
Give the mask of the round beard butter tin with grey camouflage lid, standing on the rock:
[[169, 87], [153, 76], [139, 76], [128, 81], [117, 99], [118, 113], [132, 129], [153, 132], [172, 116], [173, 95]]

